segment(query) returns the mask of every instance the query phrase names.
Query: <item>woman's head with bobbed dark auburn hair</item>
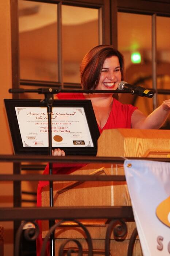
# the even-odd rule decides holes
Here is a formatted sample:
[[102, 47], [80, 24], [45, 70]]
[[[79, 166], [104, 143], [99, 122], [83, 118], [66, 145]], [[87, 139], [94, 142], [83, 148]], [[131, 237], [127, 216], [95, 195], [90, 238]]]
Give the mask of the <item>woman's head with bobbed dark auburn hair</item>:
[[[101, 72], [106, 72], [107, 75], [102, 75]], [[108, 73], [111, 77], [108, 77], [105, 82], [111, 82], [113, 74], [117, 74], [116, 76], [118, 76], [115, 81], [120, 82], [121, 79], [124, 79], [124, 57], [112, 46], [96, 46], [85, 55], [80, 66], [81, 85], [83, 89], [97, 89], [96, 87], [99, 86], [99, 81], [101, 83], [101, 79], [104, 76], [108, 76]], [[118, 86], [118, 83], [116, 85]], [[116, 90], [117, 87], [114, 87]]]

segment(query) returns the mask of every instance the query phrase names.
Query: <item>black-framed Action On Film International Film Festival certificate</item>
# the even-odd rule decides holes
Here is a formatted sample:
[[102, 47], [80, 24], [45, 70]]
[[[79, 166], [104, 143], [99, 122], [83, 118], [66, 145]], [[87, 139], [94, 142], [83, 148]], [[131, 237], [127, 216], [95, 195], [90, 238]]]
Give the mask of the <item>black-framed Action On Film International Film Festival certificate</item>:
[[[4, 99], [15, 154], [48, 154], [46, 103], [38, 99]], [[52, 147], [67, 155], [96, 155], [100, 135], [89, 100], [54, 100]]]

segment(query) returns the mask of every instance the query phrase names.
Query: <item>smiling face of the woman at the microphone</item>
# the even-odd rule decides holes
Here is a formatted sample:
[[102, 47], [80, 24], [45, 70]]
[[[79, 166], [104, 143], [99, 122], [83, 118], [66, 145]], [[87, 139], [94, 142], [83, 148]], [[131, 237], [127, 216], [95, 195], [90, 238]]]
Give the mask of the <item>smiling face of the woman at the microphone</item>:
[[96, 90], [116, 90], [121, 81], [120, 63], [117, 56], [106, 58], [101, 69]]

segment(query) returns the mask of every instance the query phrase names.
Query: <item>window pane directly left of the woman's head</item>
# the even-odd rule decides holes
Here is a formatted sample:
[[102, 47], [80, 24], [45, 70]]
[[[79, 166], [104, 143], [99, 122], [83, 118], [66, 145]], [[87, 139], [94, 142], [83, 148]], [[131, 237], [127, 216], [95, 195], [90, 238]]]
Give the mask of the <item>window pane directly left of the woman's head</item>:
[[62, 5], [63, 82], [80, 83], [80, 63], [98, 38], [98, 9]]

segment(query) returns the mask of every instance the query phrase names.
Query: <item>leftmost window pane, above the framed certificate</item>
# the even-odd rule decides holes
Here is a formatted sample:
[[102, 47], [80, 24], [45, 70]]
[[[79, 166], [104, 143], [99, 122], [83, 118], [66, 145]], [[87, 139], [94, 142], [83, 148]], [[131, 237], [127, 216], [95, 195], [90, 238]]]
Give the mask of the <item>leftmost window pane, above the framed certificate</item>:
[[18, 1], [20, 79], [58, 81], [57, 4]]

